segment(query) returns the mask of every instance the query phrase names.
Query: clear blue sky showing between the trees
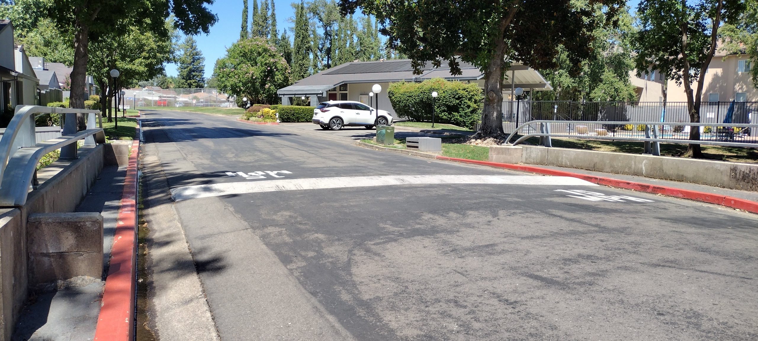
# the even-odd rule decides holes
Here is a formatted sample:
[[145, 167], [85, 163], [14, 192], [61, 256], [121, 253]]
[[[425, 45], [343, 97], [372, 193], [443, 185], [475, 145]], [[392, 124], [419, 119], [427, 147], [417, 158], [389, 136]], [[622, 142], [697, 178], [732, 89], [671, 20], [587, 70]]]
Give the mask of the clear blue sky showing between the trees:
[[[252, 0], [249, 1], [249, 14], [252, 15]], [[627, 5], [634, 11], [640, 0], [629, 0]], [[299, 3], [299, 2], [297, 2]], [[290, 37], [293, 36], [290, 28], [293, 26], [295, 11], [293, 10], [290, 0], [274, 0], [277, 11], [277, 29], [281, 34], [284, 28], [287, 28]], [[258, 0], [258, 6], [260, 1]], [[240, 39], [240, 23], [242, 22], [242, 0], [216, 0], [211, 5], [211, 11], [218, 15], [218, 22], [211, 27], [208, 35], [201, 34], [196, 36], [197, 46], [205, 57], [205, 77], [211, 77], [213, 74], [213, 65], [216, 59], [221, 58], [237, 39]], [[248, 19], [249, 25], [250, 19]], [[169, 76], [177, 75], [177, 67], [174, 64], [166, 64], [166, 74]]]

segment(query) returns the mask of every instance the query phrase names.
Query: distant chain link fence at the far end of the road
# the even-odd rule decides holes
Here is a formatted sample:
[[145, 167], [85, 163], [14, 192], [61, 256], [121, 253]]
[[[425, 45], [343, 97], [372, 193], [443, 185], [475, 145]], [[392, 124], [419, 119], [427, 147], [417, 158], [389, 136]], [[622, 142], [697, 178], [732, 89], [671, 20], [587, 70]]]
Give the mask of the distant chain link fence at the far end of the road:
[[234, 97], [218, 89], [143, 89], [124, 90], [124, 107], [220, 107], [235, 108]]

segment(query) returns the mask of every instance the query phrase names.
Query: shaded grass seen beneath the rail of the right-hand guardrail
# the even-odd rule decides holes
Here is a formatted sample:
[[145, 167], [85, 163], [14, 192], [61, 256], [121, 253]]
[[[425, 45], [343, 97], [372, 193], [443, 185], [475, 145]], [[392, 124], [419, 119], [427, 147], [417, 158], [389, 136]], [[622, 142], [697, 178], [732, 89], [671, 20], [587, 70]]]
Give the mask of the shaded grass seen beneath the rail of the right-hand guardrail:
[[[539, 145], [540, 140], [537, 137], [532, 137], [527, 139], [527, 142]], [[553, 147], [631, 154], [642, 154], [645, 149], [643, 142], [556, 138], [553, 138]], [[703, 149], [703, 156], [710, 160], [758, 163], [758, 149], [721, 145], [700, 145], [700, 147]], [[663, 156], [678, 157], [684, 152], [687, 152], [687, 145], [661, 143], [661, 155]]]

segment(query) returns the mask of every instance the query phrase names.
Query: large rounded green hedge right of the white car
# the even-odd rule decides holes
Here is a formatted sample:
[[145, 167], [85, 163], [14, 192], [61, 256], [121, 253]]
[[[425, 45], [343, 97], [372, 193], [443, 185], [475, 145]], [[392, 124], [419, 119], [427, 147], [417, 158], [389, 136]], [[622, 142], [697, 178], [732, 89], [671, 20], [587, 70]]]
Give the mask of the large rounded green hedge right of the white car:
[[[431, 92], [436, 91], [434, 102]], [[387, 89], [390, 102], [399, 117], [415, 121], [431, 121], [432, 103], [434, 120], [470, 128], [481, 120], [484, 95], [476, 84], [448, 81], [441, 78], [421, 83], [392, 83]]]

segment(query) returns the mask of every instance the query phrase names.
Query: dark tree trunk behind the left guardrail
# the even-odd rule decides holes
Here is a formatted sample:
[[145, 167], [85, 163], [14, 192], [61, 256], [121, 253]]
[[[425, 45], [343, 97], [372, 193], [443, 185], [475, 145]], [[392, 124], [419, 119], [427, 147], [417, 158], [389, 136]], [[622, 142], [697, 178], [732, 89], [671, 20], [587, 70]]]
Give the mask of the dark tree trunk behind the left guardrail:
[[[87, 61], [89, 55], [89, 27], [82, 20], [77, 20], [74, 27], [74, 69], [71, 70], [70, 107], [84, 108], [84, 89], [86, 87]], [[86, 129], [84, 114], [77, 115], [78, 130]]]

